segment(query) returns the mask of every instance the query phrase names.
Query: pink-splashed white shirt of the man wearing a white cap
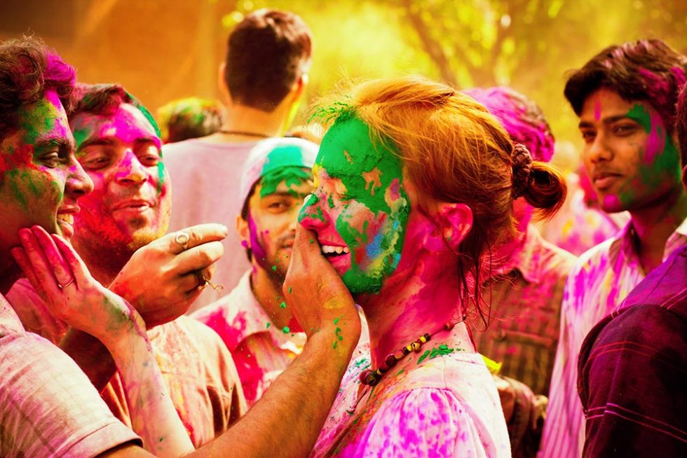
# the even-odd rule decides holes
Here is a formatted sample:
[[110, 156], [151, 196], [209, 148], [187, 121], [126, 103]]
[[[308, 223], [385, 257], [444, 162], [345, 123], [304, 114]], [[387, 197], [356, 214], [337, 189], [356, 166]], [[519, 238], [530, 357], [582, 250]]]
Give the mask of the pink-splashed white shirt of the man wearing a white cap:
[[301, 354], [305, 333], [277, 328], [250, 288], [250, 270], [231, 293], [191, 317], [210, 326], [229, 348], [250, 406]]

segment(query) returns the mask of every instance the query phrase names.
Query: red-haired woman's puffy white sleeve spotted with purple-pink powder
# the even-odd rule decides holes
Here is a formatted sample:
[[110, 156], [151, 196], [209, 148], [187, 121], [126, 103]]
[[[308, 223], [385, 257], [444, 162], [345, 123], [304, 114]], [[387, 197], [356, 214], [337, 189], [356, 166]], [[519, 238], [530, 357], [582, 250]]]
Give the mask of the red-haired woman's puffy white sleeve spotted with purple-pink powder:
[[[498, 412], [499, 414], [501, 412]], [[503, 417], [496, 415], [502, 420]], [[346, 457], [505, 457], [508, 438], [498, 444], [470, 407], [447, 389], [404, 391], [383, 403]], [[503, 445], [503, 450], [497, 450]]]

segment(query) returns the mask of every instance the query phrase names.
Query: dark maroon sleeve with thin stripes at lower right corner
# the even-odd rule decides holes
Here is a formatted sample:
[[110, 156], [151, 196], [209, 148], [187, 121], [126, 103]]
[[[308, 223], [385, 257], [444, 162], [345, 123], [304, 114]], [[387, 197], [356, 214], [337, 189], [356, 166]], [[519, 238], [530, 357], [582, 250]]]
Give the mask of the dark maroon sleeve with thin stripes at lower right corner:
[[585, 457], [687, 456], [685, 335], [684, 317], [657, 305], [633, 305], [599, 331], [580, 359]]

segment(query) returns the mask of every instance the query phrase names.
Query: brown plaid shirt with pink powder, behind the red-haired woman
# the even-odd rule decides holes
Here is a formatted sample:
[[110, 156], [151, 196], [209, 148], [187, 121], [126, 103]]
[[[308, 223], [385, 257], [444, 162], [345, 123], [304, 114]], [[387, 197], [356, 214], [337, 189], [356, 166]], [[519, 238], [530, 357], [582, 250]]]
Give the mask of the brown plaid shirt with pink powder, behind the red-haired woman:
[[549, 391], [563, 289], [575, 261], [529, 225], [522, 249], [482, 291], [487, 300], [491, 294], [492, 322], [486, 331], [473, 333], [477, 351], [503, 363], [499, 373], [534, 394]]

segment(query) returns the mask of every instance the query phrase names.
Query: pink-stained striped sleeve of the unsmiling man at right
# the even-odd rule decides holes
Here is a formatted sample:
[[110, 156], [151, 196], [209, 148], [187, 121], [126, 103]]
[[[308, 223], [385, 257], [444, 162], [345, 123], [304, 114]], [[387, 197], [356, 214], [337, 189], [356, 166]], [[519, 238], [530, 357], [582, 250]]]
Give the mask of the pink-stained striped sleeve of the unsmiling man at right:
[[566, 282], [561, 305], [561, 328], [551, 376], [546, 420], [542, 433], [540, 458], [579, 457], [582, 452], [584, 413], [577, 391], [579, 344], [575, 326], [576, 310], [583, 307], [585, 271], [578, 261]]

